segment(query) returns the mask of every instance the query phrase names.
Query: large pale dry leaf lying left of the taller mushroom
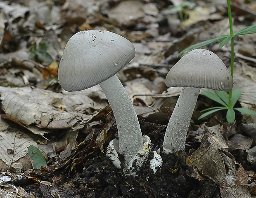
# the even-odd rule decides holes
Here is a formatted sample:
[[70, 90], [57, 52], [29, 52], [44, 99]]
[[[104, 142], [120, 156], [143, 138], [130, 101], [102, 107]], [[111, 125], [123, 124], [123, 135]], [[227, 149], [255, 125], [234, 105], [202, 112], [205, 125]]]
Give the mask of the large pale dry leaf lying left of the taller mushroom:
[[31, 87], [0, 86], [0, 94], [2, 108], [7, 116], [28, 128], [34, 123], [39, 128], [71, 128], [76, 123], [83, 123], [91, 117], [83, 111], [93, 107], [94, 103], [87, 96], [64, 96], [61, 93]]

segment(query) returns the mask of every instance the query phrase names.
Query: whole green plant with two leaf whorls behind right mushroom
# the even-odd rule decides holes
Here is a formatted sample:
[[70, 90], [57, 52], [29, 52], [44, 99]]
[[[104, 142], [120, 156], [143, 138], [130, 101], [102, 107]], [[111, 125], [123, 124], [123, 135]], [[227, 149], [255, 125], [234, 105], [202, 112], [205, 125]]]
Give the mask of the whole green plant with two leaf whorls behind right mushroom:
[[[237, 31], [236, 33], [233, 33], [233, 26], [232, 26], [232, 13], [231, 13], [231, 7], [230, 7], [230, 0], [227, 0], [227, 6], [228, 6], [228, 19], [229, 19], [229, 25], [230, 25], [230, 35], [220, 35], [219, 37], [216, 37], [214, 39], [211, 40], [206, 40], [204, 42], [200, 42], [197, 44], [194, 44], [190, 47], [187, 47], [186, 49], [184, 49], [183, 51], [180, 52], [180, 55], [184, 56], [187, 52], [193, 50], [193, 49], [197, 49], [200, 47], [204, 47], [208, 44], [211, 44], [213, 42], [217, 42], [220, 41], [220, 49], [227, 44], [229, 41], [231, 41], [231, 59], [230, 59], [230, 73], [231, 76], [233, 77], [233, 70], [234, 70], [234, 39], [236, 36], [239, 35], [247, 35], [247, 34], [254, 34], [256, 33], [256, 25], [253, 26], [247, 26], [239, 31]], [[234, 93], [233, 93], [234, 92]], [[204, 109], [202, 112], [210, 110], [209, 112], [206, 112], [204, 114], [202, 114], [200, 118], [203, 118], [213, 112], [216, 111], [220, 111], [220, 110], [228, 110], [227, 112], [227, 121], [228, 122], [234, 122], [235, 121], [235, 111], [237, 110], [239, 112], [245, 113], [245, 114], [252, 114], [252, 115], [256, 115], [256, 112], [249, 110], [249, 109], [244, 109], [244, 108], [234, 108], [235, 103], [237, 102], [237, 100], [240, 98], [241, 96], [241, 90], [237, 89], [237, 91], [230, 91], [229, 95], [226, 92], [221, 92], [221, 91], [216, 91], [215, 95], [214, 93], [209, 93], [206, 91], [202, 91], [202, 93], [207, 96], [208, 98], [210, 98], [211, 100], [214, 100], [218, 103], [220, 103], [221, 105], [223, 105], [223, 107], [212, 107], [209, 109]]]

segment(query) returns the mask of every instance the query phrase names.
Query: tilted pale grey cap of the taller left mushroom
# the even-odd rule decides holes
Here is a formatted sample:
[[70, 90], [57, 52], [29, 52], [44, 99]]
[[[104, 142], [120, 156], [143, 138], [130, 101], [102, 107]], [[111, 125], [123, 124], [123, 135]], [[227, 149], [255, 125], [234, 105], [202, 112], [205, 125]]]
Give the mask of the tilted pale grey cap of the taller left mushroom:
[[80, 91], [109, 79], [135, 56], [133, 44], [107, 30], [73, 35], [59, 63], [58, 79], [66, 91]]

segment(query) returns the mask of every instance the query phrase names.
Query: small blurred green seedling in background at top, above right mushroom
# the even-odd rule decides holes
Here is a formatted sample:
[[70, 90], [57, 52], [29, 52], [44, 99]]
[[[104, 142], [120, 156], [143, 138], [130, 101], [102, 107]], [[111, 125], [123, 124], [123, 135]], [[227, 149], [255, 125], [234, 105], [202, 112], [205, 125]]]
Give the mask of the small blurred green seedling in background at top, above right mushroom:
[[170, 5], [169, 8], [175, 11], [178, 11], [180, 20], [185, 21], [188, 18], [188, 11], [191, 7], [194, 8], [196, 4], [194, 2], [185, 1], [179, 5]]

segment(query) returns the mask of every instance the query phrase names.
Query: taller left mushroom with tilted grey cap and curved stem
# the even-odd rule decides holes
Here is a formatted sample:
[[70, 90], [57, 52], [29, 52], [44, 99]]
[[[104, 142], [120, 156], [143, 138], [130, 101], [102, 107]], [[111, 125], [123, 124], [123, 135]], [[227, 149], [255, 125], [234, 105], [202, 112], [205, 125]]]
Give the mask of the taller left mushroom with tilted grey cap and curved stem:
[[130, 161], [143, 147], [133, 104], [116, 73], [135, 56], [133, 44], [106, 30], [85, 30], [67, 42], [59, 63], [58, 78], [66, 91], [80, 91], [100, 84], [114, 112], [120, 154]]

